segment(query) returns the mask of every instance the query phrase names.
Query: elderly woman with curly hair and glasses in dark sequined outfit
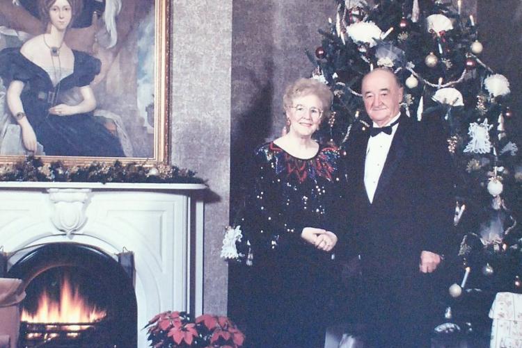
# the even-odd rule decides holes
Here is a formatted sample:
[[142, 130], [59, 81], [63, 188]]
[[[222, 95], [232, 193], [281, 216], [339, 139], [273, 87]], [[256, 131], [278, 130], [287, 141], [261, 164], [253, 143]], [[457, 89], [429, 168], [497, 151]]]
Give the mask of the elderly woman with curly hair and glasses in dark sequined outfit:
[[338, 149], [313, 134], [329, 116], [331, 99], [329, 88], [311, 78], [287, 87], [287, 133], [255, 151], [251, 191], [226, 237], [241, 237], [238, 257], [252, 265], [249, 347], [324, 346], [338, 240], [331, 215], [342, 190]]

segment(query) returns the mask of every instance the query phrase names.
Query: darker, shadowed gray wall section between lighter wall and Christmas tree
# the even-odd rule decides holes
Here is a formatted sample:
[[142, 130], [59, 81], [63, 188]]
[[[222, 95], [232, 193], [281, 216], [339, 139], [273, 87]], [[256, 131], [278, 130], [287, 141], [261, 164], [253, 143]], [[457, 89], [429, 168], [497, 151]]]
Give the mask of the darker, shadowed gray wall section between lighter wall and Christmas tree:
[[[232, 17], [232, 208], [239, 206], [253, 149], [280, 136], [287, 83], [310, 76], [305, 54], [320, 46], [318, 28], [335, 15], [333, 0], [234, 1]], [[334, 17], [335, 18], [335, 17]], [[232, 210], [235, 215], [235, 209]]]

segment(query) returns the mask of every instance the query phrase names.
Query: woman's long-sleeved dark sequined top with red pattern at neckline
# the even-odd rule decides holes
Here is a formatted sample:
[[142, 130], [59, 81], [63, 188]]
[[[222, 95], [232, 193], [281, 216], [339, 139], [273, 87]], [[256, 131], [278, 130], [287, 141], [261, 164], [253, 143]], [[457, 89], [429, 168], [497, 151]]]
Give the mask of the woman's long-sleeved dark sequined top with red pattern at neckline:
[[[251, 248], [292, 249], [304, 227], [331, 229], [331, 217], [342, 190], [338, 149], [320, 146], [313, 158], [296, 158], [274, 142], [255, 154], [253, 183], [248, 192], [242, 241]], [[300, 245], [300, 244], [299, 244]]]

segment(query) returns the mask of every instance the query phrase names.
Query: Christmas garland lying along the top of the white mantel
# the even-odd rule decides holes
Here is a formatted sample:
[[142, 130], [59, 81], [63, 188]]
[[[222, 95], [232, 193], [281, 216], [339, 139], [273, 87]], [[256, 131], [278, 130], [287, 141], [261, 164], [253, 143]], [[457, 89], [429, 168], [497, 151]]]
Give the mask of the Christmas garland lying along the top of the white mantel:
[[[154, 170], [155, 169], [155, 170]], [[150, 172], [157, 172], [151, 175]], [[147, 167], [138, 163], [93, 162], [84, 167], [66, 166], [60, 161], [43, 163], [41, 158], [26, 157], [0, 167], [0, 181], [54, 181], [79, 183], [204, 183], [189, 169], [161, 164]]]

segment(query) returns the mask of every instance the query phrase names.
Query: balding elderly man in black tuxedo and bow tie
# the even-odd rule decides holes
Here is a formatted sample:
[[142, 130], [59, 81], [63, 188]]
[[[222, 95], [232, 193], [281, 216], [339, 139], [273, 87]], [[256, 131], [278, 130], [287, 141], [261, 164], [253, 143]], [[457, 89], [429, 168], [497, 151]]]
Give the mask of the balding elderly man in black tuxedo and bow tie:
[[365, 347], [429, 347], [433, 272], [451, 239], [450, 156], [438, 122], [400, 112], [393, 72], [374, 69], [362, 93], [373, 124], [353, 127], [345, 144], [354, 240], [343, 244], [361, 260]]

